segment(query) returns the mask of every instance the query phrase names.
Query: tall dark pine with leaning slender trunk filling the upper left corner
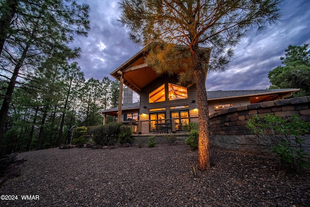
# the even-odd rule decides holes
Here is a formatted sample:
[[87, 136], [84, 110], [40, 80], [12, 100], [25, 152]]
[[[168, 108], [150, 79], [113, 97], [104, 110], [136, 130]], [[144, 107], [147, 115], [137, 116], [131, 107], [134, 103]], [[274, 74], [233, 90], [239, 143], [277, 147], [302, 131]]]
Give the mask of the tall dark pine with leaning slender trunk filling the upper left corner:
[[86, 35], [89, 30], [89, 6], [75, 0], [8, 0], [2, 5], [0, 64], [6, 92], [0, 109], [0, 140], [17, 78], [24, 78], [31, 66], [35, 69], [53, 52], [66, 51], [74, 33]]

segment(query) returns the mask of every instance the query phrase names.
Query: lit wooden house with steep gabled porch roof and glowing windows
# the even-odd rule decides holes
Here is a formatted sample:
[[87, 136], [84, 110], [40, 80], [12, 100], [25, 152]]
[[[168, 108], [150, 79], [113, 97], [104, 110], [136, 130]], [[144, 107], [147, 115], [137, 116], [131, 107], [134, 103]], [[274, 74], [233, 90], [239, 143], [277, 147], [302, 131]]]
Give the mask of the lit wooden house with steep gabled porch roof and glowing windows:
[[[210, 54], [210, 49], [203, 49]], [[143, 48], [110, 73], [112, 77], [120, 80], [121, 91], [124, 83], [127, 88], [140, 95], [140, 102], [122, 105], [122, 101], [119, 101], [119, 107], [99, 113], [105, 116], [105, 120], [107, 115], [117, 116], [118, 121], [130, 125], [134, 133], [143, 135], [182, 133], [183, 125], [198, 122], [196, 85], [178, 85], [178, 74], [157, 75], [146, 63], [147, 55], [147, 50]], [[298, 89], [208, 91], [209, 113], [251, 103], [283, 99], [296, 91]], [[120, 97], [122, 95], [120, 93]]]

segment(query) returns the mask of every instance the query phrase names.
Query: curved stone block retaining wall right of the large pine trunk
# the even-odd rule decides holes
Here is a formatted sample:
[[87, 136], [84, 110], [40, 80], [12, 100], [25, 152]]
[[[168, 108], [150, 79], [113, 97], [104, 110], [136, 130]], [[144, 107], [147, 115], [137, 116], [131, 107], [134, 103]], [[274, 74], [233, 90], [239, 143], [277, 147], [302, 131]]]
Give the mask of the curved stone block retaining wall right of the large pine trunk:
[[[269, 148], [246, 127], [246, 122], [255, 114], [263, 117], [267, 113], [277, 116], [296, 114], [302, 121], [310, 123], [310, 96], [250, 104], [211, 114], [212, 144], [240, 151], [269, 151]], [[305, 138], [308, 142], [303, 146], [310, 152], [310, 133]]]

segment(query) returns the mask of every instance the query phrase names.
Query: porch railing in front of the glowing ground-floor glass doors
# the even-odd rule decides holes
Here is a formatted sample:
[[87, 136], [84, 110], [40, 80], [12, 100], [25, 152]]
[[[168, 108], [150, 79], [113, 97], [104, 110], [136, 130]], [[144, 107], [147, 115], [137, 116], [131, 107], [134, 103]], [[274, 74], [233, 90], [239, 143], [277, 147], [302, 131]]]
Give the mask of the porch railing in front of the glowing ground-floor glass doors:
[[139, 120], [122, 122], [131, 127], [133, 134], [184, 133], [183, 125], [190, 121], [198, 122], [198, 117]]

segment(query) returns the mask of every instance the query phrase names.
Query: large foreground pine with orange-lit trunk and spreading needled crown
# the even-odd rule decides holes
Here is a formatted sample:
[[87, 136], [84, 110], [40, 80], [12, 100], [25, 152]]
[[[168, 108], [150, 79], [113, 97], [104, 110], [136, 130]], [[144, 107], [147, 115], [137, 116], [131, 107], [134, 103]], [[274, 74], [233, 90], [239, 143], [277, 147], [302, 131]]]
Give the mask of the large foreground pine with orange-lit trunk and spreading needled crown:
[[[232, 48], [257, 27], [280, 17], [281, 0], [121, 0], [120, 22], [130, 39], [138, 44], [150, 42], [185, 45], [192, 67], [188, 74], [195, 80], [199, 109], [199, 168], [211, 166], [210, 123], [205, 74], [200, 47], [212, 48], [208, 70], [224, 69]], [[171, 48], [171, 47], [167, 47]], [[163, 50], [163, 55], [167, 52]]]

